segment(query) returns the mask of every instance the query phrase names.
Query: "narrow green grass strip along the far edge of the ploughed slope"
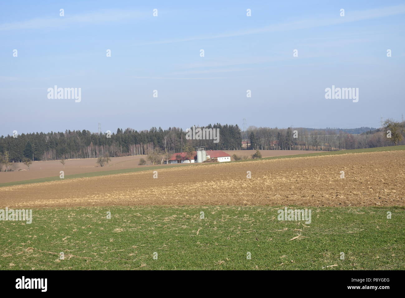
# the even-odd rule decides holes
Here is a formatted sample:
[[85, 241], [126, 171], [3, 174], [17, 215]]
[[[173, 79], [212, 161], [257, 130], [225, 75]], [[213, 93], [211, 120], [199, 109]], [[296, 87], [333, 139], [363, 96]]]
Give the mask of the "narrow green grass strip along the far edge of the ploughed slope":
[[[378, 152], [378, 151], [396, 151], [396, 150], [405, 150], [405, 146], [389, 146], [389, 147], [376, 147], [376, 148], [341, 150], [341, 151], [325, 151], [325, 152], [319, 152], [319, 153], [295, 154], [295, 155], [285, 155], [285, 156], [277, 156], [277, 157], [265, 157], [265, 158], [256, 159], [256, 160], [262, 160], [262, 159], [285, 159], [285, 158], [296, 158], [296, 157], [310, 157], [310, 156], [336, 155], [336, 154], [347, 154], [347, 153], [363, 153], [363, 152]], [[247, 159], [247, 160], [241, 160], [241, 161], [230, 161], [230, 163], [241, 163], [241, 162], [245, 162], [245, 161], [252, 161], [252, 160]], [[211, 164], [211, 163], [160, 165], [158, 167], [145, 167], [145, 168], [139, 167], [139, 168], [130, 168], [130, 169], [117, 169], [117, 170], [102, 171], [102, 172], [90, 172], [90, 173], [82, 173], [82, 174], [75, 174], [75, 175], [66, 175], [64, 179], [105, 176], [105, 175], [132, 173], [132, 172], [140, 172], [140, 171], [150, 171], [150, 170], [154, 170], [154, 169], [165, 169], [165, 168], [170, 168], [170, 167], [179, 167], [179, 166], [187, 166], [187, 165], [188, 166], [196, 166], [196, 165], [201, 166], [201, 165], [209, 165], [209, 164]], [[20, 184], [29, 184], [29, 183], [49, 182], [49, 181], [57, 181], [57, 180], [60, 180], [59, 176], [0, 183], [0, 187], [20, 185]]]

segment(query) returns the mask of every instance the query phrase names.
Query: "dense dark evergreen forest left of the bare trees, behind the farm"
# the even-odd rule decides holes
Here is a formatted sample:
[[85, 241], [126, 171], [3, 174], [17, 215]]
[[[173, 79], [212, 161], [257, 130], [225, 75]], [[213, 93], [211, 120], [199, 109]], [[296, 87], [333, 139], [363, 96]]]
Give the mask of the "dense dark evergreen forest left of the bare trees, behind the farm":
[[0, 138], [0, 154], [8, 162], [25, 159], [48, 161], [60, 159], [98, 158], [108, 155], [149, 155], [156, 152], [183, 152], [188, 146], [206, 146], [207, 150], [237, 150], [241, 148], [241, 131], [237, 125], [209, 124], [202, 128], [219, 128], [220, 140], [188, 140], [181, 128], [149, 131], [132, 128], [117, 129], [116, 133], [92, 133], [88, 130], [50, 133], [22, 133], [17, 137]]

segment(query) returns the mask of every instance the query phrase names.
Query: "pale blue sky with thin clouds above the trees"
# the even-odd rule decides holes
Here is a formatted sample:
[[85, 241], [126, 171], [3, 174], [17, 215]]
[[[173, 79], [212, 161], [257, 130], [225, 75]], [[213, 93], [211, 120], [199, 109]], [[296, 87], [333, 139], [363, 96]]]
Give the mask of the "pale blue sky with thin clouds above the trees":
[[[0, 135], [379, 127], [405, 113], [404, 16], [405, 1], [2, 1]], [[81, 101], [49, 99], [55, 85]]]

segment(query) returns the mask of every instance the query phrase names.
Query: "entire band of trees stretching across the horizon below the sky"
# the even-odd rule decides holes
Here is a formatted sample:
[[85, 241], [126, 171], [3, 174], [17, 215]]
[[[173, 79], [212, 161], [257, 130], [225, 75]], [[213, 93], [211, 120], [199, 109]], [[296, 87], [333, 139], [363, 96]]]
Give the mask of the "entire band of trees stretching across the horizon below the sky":
[[[269, 128], [250, 126], [241, 131], [232, 124], [209, 124], [200, 128], [220, 129], [218, 143], [208, 139], [186, 138], [186, 131], [152, 127], [149, 131], [131, 128], [116, 133], [92, 133], [87, 130], [50, 133], [27, 133], [0, 137], [0, 170], [13, 162], [149, 155], [151, 163], [170, 158], [175, 152], [189, 152], [196, 146], [206, 150], [344, 150], [404, 144], [405, 122], [386, 120], [382, 129], [350, 134], [336, 129]], [[192, 129], [192, 127], [190, 127]], [[390, 131], [388, 137], [387, 131]], [[242, 145], [245, 141], [247, 145]], [[29, 167], [29, 165], [28, 165]]]

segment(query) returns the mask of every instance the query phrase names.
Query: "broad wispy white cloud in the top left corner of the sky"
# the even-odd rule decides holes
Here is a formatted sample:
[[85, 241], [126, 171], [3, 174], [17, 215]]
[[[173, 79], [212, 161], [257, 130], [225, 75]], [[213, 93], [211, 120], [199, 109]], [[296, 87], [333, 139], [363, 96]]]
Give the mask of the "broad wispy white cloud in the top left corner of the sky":
[[[59, 14], [59, 12], [56, 11], [55, 14]], [[139, 11], [130, 11], [122, 9], [100, 10], [75, 15], [69, 15], [69, 12], [65, 11], [64, 17], [58, 16], [48, 18], [34, 18], [28, 21], [17, 21], [0, 24], [0, 31], [54, 28], [60, 26], [70, 26], [72, 24], [80, 24], [80, 23], [102, 23], [102, 22], [124, 21], [127, 19], [141, 18], [143, 16], [145, 16], [145, 14], [142, 14]]]

